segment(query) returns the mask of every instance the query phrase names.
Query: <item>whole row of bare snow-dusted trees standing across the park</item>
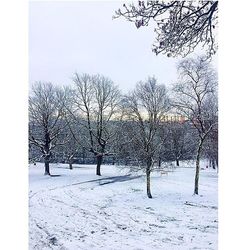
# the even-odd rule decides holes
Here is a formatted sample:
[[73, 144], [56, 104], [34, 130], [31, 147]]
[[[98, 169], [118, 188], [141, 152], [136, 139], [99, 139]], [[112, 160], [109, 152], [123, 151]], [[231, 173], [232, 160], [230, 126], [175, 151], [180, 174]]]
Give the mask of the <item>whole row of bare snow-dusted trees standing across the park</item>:
[[[75, 73], [73, 84], [37, 82], [29, 96], [29, 158], [51, 162], [120, 164], [147, 177], [162, 162], [200, 158], [218, 167], [217, 76], [203, 57], [178, 64], [178, 81], [159, 84], [155, 77], [122, 94], [108, 77]], [[168, 118], [168, 119], [167, 119]], [[178, 118], [178, 119], [177, 119]]]

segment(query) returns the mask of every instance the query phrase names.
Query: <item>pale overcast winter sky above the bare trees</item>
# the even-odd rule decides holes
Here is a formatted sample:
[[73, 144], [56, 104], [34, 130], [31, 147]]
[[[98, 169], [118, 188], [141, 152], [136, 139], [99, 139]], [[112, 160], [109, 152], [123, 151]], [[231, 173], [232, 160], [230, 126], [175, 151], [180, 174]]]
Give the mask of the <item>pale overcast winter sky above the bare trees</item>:
[[67, 85], [75, 72], [102, 74], [123, 92], [140, 80], [176, 80], [177, 59], [152, 52], [153, 23], [137, 29], [123, 18], [112, 20], [122, 2], [30, 2], [29, 84]]

